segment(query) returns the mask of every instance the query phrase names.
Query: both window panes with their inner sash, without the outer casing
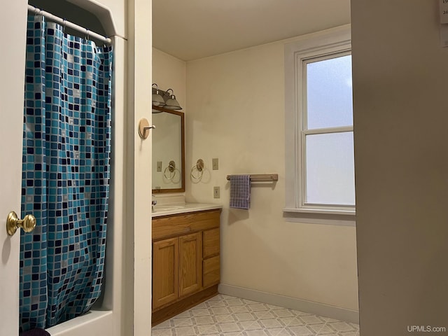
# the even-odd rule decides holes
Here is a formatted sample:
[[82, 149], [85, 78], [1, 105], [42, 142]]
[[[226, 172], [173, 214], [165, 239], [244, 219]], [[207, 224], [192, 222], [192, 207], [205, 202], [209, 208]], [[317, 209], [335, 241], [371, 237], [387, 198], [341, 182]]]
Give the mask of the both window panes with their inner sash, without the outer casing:
[[302, 205], [353, 207], [351, 55], [302, 61]]

